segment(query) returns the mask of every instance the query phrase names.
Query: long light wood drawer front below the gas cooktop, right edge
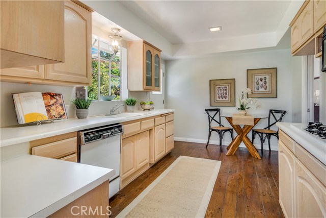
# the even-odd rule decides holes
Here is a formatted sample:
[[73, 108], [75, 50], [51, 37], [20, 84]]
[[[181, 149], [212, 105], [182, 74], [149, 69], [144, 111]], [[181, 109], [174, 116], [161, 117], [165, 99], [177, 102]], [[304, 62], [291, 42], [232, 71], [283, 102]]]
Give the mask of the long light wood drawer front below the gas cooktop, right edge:
[[326, 166], [307, 152], [300, 144], [295, 143], [296, 157], [307, 166], [322, 184], [326, 185]]

